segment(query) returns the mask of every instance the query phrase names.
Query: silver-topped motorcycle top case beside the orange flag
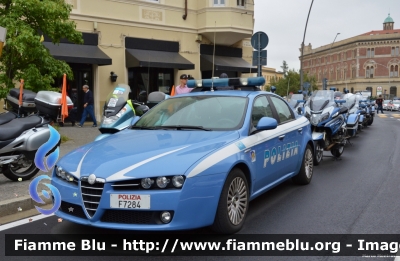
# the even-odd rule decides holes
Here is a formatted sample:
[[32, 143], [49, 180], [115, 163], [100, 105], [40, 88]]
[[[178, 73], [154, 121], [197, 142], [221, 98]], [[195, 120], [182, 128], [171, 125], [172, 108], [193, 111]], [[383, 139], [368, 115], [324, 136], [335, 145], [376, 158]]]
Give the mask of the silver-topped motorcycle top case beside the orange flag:
[[[40, 114], [49, 115], [58, 119], [61, 115], [61, 93], [52, 91], [40, 91], [35, 98], [36, 108]], [[67, 96], [68, 111], [74, 107], [73, 102]]]

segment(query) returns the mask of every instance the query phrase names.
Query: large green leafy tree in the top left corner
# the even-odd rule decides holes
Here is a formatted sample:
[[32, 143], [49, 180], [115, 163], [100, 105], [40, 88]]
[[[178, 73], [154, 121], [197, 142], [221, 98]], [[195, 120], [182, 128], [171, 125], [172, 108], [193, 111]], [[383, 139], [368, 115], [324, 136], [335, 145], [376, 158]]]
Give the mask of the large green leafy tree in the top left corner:
[[83, 43], [82, 33], [69, 20], [71, 5], [64, 0], [0, 0], [0, 6], [0, 26], [7, 28], [0, 58], [0, 99], [21, 79], [35, 92], [51, 89], [54, 78], [64, 73], [73, 79], [68, 64], [54, 59], [41, 42], [43, 33], [54, 44], [62, 38]]

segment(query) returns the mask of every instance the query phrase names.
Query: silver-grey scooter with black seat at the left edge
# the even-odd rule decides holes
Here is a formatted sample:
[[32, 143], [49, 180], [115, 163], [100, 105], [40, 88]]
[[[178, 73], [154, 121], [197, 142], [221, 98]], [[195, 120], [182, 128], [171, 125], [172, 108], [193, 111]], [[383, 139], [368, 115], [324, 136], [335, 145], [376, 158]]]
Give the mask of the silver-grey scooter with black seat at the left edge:
[[[10, 117], [6, 114], [1, 114], [0, 119]], [[32, 115], [0, 125], [0, 173], [12, 181], [24, 181], [39, 172], [34, 159], [36, 151], [50, 138], [48, 124], [43, 117]], [[47, 155], [60, 143], [61, 140]]]

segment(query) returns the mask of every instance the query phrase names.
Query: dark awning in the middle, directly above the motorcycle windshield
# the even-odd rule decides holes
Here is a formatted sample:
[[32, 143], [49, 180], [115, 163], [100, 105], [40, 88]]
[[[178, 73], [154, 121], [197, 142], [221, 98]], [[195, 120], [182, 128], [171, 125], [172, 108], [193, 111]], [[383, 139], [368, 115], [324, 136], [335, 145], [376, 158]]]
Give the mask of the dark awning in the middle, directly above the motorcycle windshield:
[[193, 70], [194, 64], [176, 52], [125, 49], [126, 67], [155, 67]]

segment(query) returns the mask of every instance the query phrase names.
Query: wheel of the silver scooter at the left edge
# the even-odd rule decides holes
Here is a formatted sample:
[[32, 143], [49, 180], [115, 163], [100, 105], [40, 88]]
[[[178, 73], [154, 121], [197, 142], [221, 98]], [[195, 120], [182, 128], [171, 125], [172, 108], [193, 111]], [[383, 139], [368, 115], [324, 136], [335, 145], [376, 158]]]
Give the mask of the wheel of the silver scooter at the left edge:
[[26, 158], [21, 159], [16, 163], [11, 163], [3, 166], [4, 176], [12, 181], [30, 180], [38, 172], [39, 169], [36, 167], [34, 161]]

